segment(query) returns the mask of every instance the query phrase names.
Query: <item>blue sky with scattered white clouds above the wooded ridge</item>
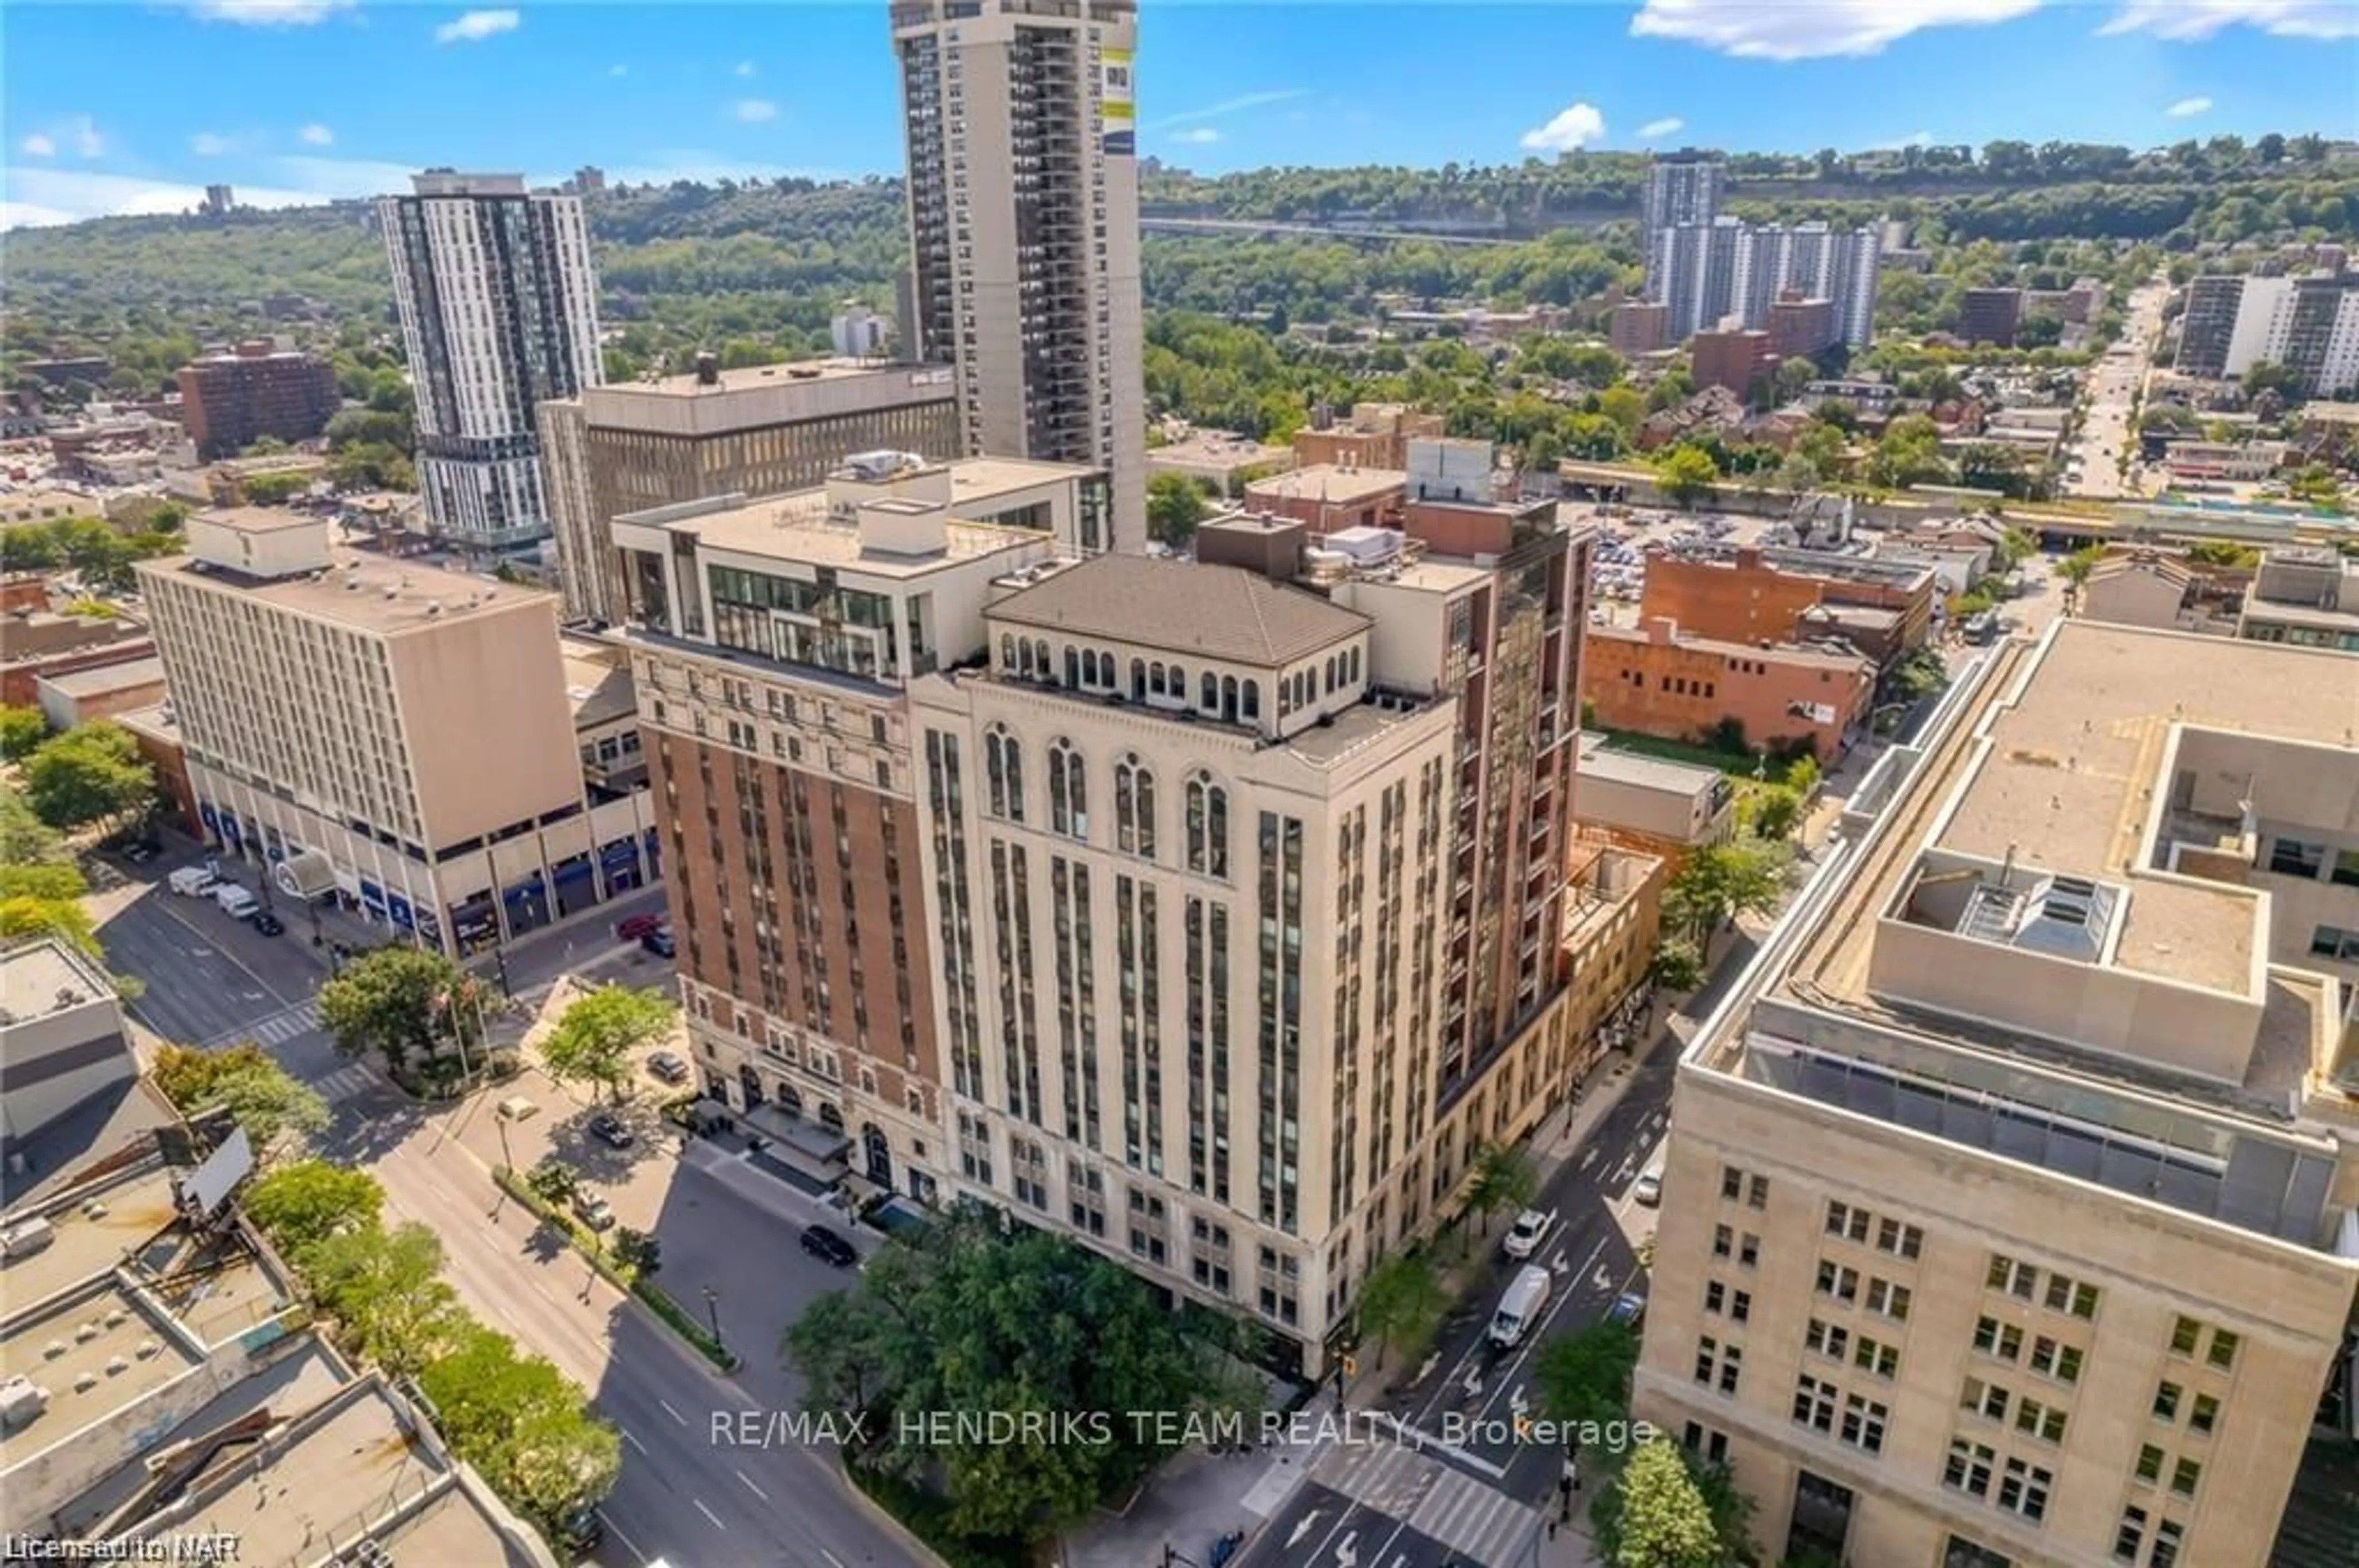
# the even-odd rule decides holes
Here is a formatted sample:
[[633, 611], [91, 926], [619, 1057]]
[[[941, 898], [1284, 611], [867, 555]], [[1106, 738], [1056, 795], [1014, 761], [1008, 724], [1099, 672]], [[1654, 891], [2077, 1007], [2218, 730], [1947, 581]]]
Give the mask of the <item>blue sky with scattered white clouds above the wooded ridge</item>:
[[[885, 0], [467, 9], [9, 0], [0, 219], [281, 205], [429, 163], [894, 172]], [[2359, 0], [1144, 0], [1139, 151], [1505, 163], [1571, 146], [2359, 134]]]

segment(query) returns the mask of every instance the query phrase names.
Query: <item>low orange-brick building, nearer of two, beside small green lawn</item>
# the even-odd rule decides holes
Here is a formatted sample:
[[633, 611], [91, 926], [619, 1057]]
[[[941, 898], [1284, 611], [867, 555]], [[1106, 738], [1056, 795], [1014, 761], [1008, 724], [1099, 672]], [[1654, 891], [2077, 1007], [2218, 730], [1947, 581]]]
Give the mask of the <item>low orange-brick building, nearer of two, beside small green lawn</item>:
[[1746, 745], [1807, 740], [1833, 764], [1875, 705], [1875, 665], [1857, 653], [1793, 644], [1696, 637], [1670, 620], [1590, 627], [1583, 700], [1597, 724], [1665, 740], [1696, 740], [1722, 722], [1746, 726]]

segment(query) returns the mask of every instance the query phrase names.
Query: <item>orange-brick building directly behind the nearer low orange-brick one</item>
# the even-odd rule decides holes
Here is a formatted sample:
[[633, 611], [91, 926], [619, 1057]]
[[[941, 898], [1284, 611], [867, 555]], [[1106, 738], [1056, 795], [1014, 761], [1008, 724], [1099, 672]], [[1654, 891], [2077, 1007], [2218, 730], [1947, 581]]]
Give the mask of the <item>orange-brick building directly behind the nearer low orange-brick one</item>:
[[[1814, 549], [1736, 549], [1729, 559], [1647, 564], [1642, 620], [1694, 637], [1800, 641], [1847, 637], [1878, 663], [1932, 634], [1937, 580], [1925, 566], [1880, 566]], [[1824, 615], [1805, 618], [1807, 611]]]

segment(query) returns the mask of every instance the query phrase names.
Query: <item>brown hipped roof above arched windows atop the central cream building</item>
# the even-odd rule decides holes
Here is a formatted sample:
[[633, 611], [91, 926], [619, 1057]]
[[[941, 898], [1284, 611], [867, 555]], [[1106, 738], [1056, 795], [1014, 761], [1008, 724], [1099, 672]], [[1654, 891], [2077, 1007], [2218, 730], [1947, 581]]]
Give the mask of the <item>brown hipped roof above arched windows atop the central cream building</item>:
[[991, 606], [1010, 625], [1286, 665], [1368, 625], [1319, 594], [1241, 566], [1095, 556]]

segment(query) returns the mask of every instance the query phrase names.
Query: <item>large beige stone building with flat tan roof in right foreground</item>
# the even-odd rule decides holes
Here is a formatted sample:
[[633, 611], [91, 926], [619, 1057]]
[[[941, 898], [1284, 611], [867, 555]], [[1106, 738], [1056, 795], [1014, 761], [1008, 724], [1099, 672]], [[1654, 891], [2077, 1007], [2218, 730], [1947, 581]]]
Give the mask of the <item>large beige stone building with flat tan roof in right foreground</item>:
[[1635, 1377], [1767, 1556], [2288, 1561], [2347, 1476], [2352, 712], [2064, 620], [1854, 790], [1680, 1061]]

